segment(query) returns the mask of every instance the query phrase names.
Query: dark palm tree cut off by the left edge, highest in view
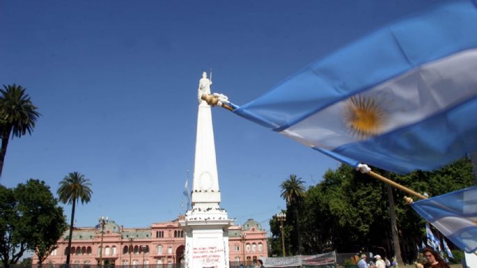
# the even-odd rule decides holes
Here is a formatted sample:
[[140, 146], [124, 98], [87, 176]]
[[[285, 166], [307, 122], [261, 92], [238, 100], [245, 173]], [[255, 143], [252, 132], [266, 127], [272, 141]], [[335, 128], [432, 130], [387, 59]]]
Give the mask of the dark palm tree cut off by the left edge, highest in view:
[[18, 138], [28, 132], [31, 134], [40, 113], [33, 105], [26, 88], [15, 84], [0, 88], [0, 176], [8, 147], [10, 134]]

